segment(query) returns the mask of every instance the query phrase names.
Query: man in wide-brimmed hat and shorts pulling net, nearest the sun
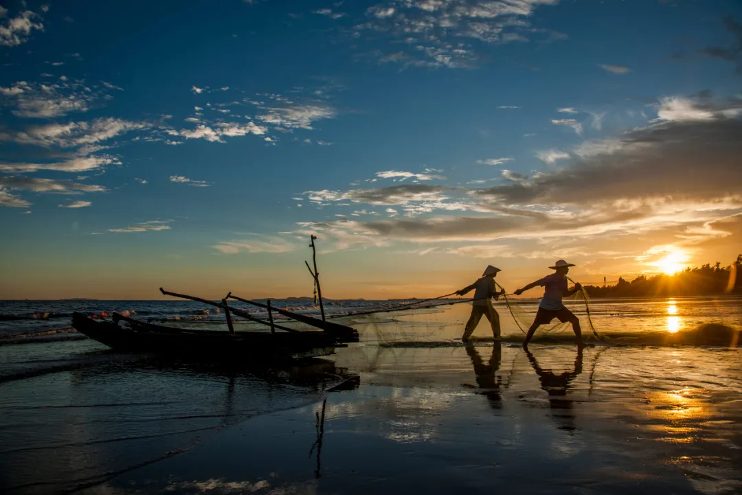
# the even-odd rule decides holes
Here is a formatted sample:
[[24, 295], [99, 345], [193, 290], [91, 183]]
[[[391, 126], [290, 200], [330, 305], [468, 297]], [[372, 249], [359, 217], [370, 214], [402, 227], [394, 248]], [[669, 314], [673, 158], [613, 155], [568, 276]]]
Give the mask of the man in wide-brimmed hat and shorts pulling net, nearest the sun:
[[525, 335], [525, 342], [523, 342], [524, 349], [528, 349], [528, 342], [533, 337], [533, 333], [536, 332], [536, 328], [539, 328], [541, 325], [548, 325], [554, 318], [559, 319], [562, 323], [570, 322], [572, 324], [572, 330], [574, 330], [574, 334], [577, 336], [577, 347], [581, 348], [585, 346], [582, 342], [580, 319], [574, 316], [574, 313], [565, 308], [565, 305], [562, 303], [562, 297], [569, 297], [582, 289], [582, 285], [579, 283], [575, 284], [574, 288], [567, 288], [567, 273], [569, 273], [570, 267], [574, 267], [574, 265], [565, 262], [563, 259], [559, 259], [553, 267], [549, 267], [552, 270], [557, 270], [556, 273], [547, 275], [543, 279], [536, 280], [536, 282], [515, 291], [516, 296], [520, 296], [526, 290], [536, 287], [536, 285], [544, 288], [544, 296], [541, 299], [541, 304], [539, 304], [536, 319], [533, 320], [531, 328], [528, 328], [528, 333]]

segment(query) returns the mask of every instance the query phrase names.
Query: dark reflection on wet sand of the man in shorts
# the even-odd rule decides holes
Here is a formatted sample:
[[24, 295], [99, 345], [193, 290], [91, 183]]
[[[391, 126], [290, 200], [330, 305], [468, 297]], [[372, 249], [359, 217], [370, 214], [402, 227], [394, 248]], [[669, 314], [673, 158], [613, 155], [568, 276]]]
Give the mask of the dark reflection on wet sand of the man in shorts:
[[533, 366], [533, 371], [539, 376], [541, 388], [548, 394], [551, 417], [557, 422], [559, 430], [574, 431], [573, 400], [569, 398], [568, 391], [571, 383], [582, 373], [582, 348], [577, 349], [577, 357], [574, 359], [574, 370], [563, 373], [554, 373], [551, 369], [541, 368], [536, 356], [531, 351], [525, 351], [528, 361]]

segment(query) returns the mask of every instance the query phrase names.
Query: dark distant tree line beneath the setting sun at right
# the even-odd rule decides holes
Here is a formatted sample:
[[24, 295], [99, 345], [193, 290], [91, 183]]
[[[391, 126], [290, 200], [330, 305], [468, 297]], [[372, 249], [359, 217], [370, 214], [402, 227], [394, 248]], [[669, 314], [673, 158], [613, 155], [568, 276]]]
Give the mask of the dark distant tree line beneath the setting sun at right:
[[616, 285], [585, 285], [591, 297], [712, 296], [742, 293], [742, 254], [732, 265], [720, 262], [686, 268], [674, 275], [640, 275], [628, 282], [619, 278]]

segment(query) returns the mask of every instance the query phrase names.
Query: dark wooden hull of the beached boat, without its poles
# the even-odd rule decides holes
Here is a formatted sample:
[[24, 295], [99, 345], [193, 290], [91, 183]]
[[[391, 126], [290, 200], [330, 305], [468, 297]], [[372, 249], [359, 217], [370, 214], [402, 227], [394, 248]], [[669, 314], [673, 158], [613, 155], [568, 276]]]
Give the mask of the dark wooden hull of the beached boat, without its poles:
[[140, 322], [114, 313], [112, 320], [73, 313], [72, 326], [117, 351], [139, 351], [220, 359], [303, 359], [335, 353], [346, 347], [324, 331], [189, 330]]

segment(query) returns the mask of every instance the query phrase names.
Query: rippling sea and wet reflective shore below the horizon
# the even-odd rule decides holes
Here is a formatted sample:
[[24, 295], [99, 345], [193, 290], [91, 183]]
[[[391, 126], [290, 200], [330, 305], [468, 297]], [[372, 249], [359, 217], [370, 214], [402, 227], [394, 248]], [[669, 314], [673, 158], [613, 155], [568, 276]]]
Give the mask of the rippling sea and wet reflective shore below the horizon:
[[[405, 303], [332, 301], [326, 313]], [[272, 304], [319, 313], [312, 299]], [[535, 314], [537, 301], [518, 304]], [[522, 335], [495, 306], [503, 336]], [[742, 329], [736, 296], [589, 308], [605, 335]], [[464, 346], [462, 303], [341, 317], [361, 342], [256, 367], [116, 353], [70, 329], [75, 311], [226, 330], [197, 302], [0, 302], [0, 493], [742, 493], [739, 345], [578, 350], [565, 327], [525, 351], [487, 340], [483, 319]]]

